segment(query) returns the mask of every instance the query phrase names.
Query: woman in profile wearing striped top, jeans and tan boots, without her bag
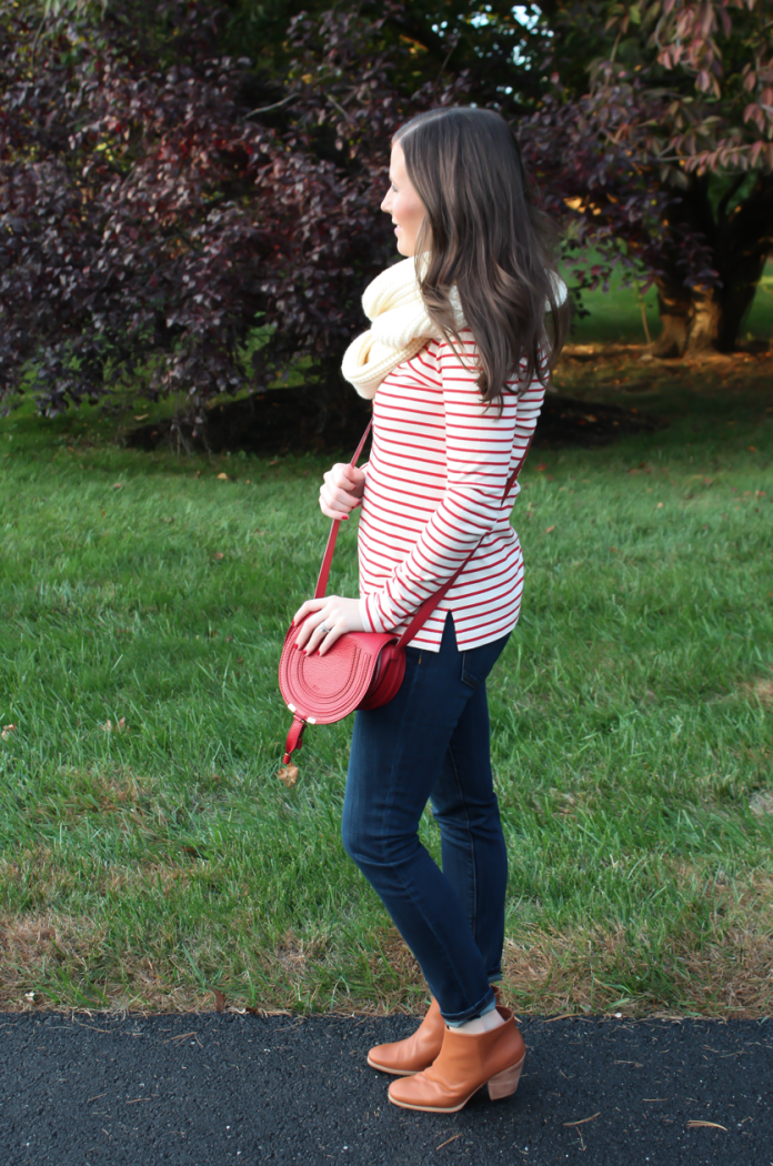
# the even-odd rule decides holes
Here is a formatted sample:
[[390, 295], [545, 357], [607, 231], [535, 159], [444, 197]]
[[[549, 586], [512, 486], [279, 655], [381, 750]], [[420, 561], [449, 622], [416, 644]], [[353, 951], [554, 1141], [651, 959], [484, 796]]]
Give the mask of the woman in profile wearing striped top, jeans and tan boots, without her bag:
[[[493, 791], [486, 676], [519, 613], [523, 564], [507, 497], [565, 319], [515, 140], [499, 114], [436, 110], [393, 140], [392, 216], [403, 262], [367, 288], [372, 328], [344, 375], [373, 399], [367, 466], [324, 475], [322, 512], [359, 524], [360, 598], [304, 603], [296, 642], [324, 654], [349, 631], [402, 631], [473, 552], [407, 648], [388, 704], [354, 721], [343, 840], [431, 989], [408, 1040], [371, 1049], [389, 1100], [454, 1112], [489, 1086], [514, 1093], [525, 1046], [499, 1005], [507, 856]], [[442, 871], [419, 842], [431, 801]]]

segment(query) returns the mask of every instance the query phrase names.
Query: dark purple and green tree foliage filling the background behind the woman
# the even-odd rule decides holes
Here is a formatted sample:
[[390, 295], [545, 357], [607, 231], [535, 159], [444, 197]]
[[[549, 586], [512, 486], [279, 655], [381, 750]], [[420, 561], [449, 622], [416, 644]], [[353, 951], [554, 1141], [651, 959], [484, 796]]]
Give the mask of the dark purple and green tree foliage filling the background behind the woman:
[[0, 0], [0, 393], [31, 370], [58, 409], [148, 358], [197, 408], [291, 360], [332, 384], [391, 254], [386, 145], [449, 101], [512, 121], [581, 285], [644, 265], [661, 353], [730, 349], [771, 243], [772, 15]]

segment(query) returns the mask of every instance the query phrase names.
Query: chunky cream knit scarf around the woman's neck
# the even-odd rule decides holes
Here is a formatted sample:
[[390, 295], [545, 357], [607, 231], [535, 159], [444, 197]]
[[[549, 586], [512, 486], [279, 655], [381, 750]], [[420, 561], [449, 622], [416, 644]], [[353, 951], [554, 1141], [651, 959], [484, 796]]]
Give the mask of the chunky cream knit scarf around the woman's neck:
[[[464, 312], [455, 287], [449, 300], [458, 331]], [[387, 373], [415, 357], [427, 340], [444, 337], [427, 315], [413, 258], [377, 275], [365, 289], [363, 308], [372, 326], [349, 345], [340, 371], [360, 396], [371, 400]]]

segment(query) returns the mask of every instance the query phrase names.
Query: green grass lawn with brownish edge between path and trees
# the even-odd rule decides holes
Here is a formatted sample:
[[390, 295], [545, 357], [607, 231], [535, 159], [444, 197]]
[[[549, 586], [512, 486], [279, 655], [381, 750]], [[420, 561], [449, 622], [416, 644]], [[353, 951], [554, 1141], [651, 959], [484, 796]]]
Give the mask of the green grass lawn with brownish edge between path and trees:
[[[523, 473], [523, 611], [490, 682], [519, 1010], [770, 1012], [772, 372], [557, 373], [670, 424]], [[421, 1006], [339, 842], [351, 724], [276, 779], [328, 462], [0, 421], [2, 1006]], [[339, 547], [353, 593], [353, 528]]]

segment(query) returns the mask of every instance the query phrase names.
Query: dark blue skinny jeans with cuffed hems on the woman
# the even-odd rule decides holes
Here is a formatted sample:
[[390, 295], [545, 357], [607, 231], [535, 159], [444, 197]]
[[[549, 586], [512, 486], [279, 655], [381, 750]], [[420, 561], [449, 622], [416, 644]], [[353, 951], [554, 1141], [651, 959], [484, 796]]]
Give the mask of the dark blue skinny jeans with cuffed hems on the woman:
[[[507, 852], [493, 791], [486, 676], [507, 642], [407, 648], [388, 704], [354, 717], [343, 841], [416, 956], [441, 1013], [470, 1020], [501, 977]], [[442, 871], [419, 841], [428, 801]]]

